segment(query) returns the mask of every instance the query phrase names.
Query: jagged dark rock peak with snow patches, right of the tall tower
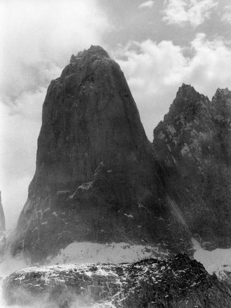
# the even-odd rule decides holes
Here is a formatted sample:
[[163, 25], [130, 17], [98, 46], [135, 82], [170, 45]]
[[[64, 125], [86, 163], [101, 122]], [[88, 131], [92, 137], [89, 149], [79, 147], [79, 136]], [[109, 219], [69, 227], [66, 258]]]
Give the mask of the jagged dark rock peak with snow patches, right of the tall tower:
[[154, 129], [165, 188], [205, 247], [231, 246], [231, 92], [213, 100], [188, 85]]

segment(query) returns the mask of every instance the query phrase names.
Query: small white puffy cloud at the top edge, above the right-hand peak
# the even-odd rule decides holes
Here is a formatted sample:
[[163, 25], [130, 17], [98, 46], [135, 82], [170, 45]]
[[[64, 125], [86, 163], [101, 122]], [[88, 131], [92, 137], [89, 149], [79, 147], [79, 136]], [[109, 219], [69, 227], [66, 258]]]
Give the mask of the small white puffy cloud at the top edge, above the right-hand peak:
[[212, 9], [217, 5], [215, 0], [168, 0], [163, 21], [168, 25], [183, 26], [189, 23], [197, 27], [210, 17]]

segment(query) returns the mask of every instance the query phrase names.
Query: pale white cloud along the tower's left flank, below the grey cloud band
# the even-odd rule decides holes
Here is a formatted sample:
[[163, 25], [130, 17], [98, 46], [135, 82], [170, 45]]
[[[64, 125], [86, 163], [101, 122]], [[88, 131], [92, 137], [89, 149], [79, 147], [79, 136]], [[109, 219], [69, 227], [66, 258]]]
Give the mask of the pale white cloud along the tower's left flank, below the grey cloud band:
[[45, 94], [46, 88], [24, 92], [13, 109], [0, 102], [0, 189], [8, 227], [18, 219], [35, 171]]

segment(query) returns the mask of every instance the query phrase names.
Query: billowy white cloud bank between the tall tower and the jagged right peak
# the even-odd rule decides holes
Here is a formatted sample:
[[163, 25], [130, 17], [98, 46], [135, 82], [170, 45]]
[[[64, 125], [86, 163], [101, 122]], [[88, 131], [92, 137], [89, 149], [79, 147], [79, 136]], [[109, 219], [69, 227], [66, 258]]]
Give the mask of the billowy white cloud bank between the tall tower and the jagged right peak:
[[189, 47], [171, 41], [130, 42], [118, 48], [114, 56], [125, 73], [150, 140], [182, 83], [191, 84], [210, 99], [218, 87], [231, 87], [231, 49], [222, 38], [209, 41], [198, 33]]

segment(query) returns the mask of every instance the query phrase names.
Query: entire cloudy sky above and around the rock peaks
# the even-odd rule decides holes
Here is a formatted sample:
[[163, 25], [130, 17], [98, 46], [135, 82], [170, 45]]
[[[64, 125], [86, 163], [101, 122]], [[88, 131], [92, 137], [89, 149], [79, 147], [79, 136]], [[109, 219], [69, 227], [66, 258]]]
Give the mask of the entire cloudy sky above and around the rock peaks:
[[182, 83], [231, 88], [230, 0], [0, 0], [0, 189], [16, 225], [35, 171], [47, 87], [101, 45], [121, 66], [147, 137]]

